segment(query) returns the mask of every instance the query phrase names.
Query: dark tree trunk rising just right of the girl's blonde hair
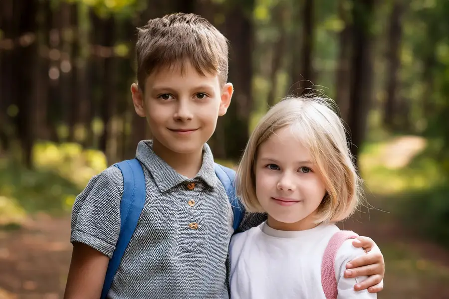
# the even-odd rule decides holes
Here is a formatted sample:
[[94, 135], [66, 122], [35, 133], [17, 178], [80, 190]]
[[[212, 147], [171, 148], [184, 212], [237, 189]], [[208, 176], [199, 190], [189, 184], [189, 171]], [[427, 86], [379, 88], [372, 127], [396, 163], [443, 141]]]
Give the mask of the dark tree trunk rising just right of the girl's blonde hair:
[[352, 59], [352, 87], [350, 93], [349, 128], [356, 159], [365, 138], [368, 112], [373, 94], [373, 36], [371, 32], [374, 0], [353, 0], [354, 44]]

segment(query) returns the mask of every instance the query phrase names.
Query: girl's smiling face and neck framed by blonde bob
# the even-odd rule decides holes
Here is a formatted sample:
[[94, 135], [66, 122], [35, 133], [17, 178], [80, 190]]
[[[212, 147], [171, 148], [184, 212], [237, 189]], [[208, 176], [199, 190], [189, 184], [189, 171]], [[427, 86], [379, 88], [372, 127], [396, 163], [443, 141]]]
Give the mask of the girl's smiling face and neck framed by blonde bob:
[[254, 165], [256, 195], [268, 213], [270, 227], [293, 231], [316, 226], [314, 216], [326, 188], [312, 160], [289, 127], [259, 146]]

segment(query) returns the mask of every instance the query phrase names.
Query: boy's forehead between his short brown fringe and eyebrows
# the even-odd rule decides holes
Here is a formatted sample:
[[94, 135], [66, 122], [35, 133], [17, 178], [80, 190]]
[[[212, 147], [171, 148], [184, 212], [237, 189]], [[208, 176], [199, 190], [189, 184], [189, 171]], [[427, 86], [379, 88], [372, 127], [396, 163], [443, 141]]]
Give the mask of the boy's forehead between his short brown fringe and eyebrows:
[[145, 88], [182, 88], [191, 85], [206, 85], [217, 88], [220, 87], [220, 80], [217, 73], [206, 71], [201, 73], [193, 67], [190, 61], [184, 61], [158, 67], [145, 81]]

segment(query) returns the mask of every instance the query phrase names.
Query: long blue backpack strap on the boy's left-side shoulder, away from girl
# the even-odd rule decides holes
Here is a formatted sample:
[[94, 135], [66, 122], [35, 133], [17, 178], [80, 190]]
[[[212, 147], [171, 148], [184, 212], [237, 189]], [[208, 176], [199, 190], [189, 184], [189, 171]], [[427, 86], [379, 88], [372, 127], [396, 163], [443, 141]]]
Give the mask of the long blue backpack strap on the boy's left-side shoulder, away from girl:
[[114, 164], [123, 175], [123, 195], [120, 201], [120, 234], [104, 279], [101, 299], [105, 299], [114, 276], [134, 234], [145, 204], [145, 175], [138, 159], [125, 160]]

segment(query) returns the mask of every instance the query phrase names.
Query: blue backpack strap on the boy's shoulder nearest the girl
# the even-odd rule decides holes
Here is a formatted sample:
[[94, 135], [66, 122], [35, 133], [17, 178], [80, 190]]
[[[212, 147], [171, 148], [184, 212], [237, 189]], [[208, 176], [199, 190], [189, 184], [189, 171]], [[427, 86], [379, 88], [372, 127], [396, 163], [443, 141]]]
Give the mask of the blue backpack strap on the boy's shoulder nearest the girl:
[[229, 203], [232, 206], [232, 212], [234, 214], [234, 221], [232, 223], [232, 228], [234, 232], [240, 226], [240, 222], [243, 219], [243, 207], [240, 205], [240, 201], [238, 200], [234, 187], [234, 179], [235, 179], [235, 171], [215, 163], [215, 173], [217, 177], [222, 182], [225, 187], [227, 198], [229, 199]]

